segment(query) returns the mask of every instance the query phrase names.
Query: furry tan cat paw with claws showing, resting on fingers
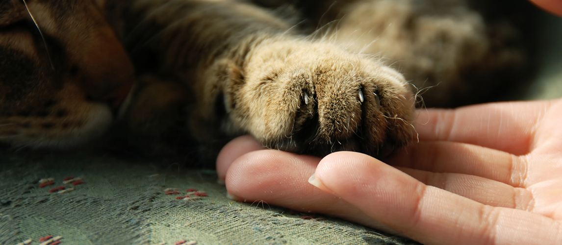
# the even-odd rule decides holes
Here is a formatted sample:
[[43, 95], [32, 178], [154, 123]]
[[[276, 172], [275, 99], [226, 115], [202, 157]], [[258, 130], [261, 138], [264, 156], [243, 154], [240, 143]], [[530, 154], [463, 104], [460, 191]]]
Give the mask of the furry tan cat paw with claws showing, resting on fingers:
[[266, 147], [386, 156], [413, 138], [414, 99], [404, 77], [367, 56], [281, 40], [257, 47], [240, 72], [225, 87], [230, 128]]

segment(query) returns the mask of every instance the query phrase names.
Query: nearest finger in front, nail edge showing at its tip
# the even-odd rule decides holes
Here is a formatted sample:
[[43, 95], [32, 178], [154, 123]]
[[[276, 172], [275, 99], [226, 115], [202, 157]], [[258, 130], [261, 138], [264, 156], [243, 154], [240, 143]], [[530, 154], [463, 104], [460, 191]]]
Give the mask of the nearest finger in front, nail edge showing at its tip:
[[323, 188], [374, 220], [423, 244], [560, 244], [560, 223], [545, 216], [490, 207], [420, 183], [355, 152], [325, 157], [315, 172]]

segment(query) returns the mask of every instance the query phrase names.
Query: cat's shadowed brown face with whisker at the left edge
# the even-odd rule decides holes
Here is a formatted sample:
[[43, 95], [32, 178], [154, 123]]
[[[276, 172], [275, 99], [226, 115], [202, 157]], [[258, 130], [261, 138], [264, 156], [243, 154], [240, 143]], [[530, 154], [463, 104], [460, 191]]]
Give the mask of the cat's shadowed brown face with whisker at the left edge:
[[114, 123], [134, 68], [105, 4], [0, 2], [0, 142], [68, 148]]

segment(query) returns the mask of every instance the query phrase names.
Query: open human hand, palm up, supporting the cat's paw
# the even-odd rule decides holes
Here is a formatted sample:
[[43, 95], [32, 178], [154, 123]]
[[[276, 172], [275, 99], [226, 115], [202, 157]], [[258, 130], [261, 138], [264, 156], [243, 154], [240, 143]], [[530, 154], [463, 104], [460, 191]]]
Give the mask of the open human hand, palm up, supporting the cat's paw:
[[[562, 99], [418, 111], [419, 143], [386, 162], [229, 143], [217, 172], [262, 200], [397, 232], [424, 244], [562, 244]], [[394, 167], [393, 167], [394, 166]], [[309, 176], [317, 187], [307, 183]]]

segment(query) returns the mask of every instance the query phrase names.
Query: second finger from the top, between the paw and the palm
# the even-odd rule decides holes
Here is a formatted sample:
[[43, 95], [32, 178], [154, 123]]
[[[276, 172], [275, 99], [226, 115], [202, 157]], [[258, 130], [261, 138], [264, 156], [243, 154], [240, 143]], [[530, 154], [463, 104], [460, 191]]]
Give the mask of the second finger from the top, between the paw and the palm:
[[519, 157], [472, 144], [420, 142], [385, 160], [390, 165], [434, 173], [480, 176], [513, 187], [525, 187], [527, 166]]

